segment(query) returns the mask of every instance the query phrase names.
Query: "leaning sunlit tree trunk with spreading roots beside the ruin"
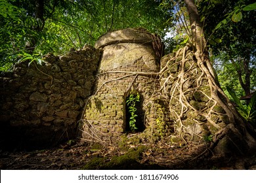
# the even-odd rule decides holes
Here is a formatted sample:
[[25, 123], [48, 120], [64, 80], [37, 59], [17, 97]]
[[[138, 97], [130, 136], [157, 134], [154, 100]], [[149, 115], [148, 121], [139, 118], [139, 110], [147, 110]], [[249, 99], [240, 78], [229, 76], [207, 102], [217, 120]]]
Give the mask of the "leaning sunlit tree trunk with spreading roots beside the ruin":
[[[200, 67], [207, 77], [211, 89], [211, 97], [217, 101], [217, 103], [224, 109], [226, 116], [228, 116], [228, 124], [222, 127], [219, 133], [215, 134], [213, 138], [213, 146], [222, 144], [219, 149], [223, 150], [225, 149], [223, 147], [223, 144], [225, 143], [221, 141], [224, 138], [229, 139], [231, 142], [234, 142], [234, 138], [241, 139], [239, 143], [243, 142], [245, 145], [240, 146], [238, 141], [236, 141], [234, 142], [234, 146], [237, 147], [236, 152], [239, 152], [239, 154], [244, 154], [244, 152], [247, 152], [249, 149], [255, 148], [255, 131], [248, 127], [249, 125], [245, 124], [240, 117], [240, 114], [238, 114], [236, 109], [232, 106], [228, 97], [226, 97], [223, 90], [219, 86], [217, 76], [215, 76], [215, 72], [209, 60], [209, 52], [207, 52], [207, 45], [202, 29], [202, 23], [200, 22], [200, 16], [194, 0], [184, 0], [184, 2], [188, 10], [192, 30], [192, 46], [194, 47], [194, 55], [196, 56], [198, 67]], [[251, 134], [248, 133], [248, 131], [250, 131]], [[252, 135], [254, 137], [252, 137]]]

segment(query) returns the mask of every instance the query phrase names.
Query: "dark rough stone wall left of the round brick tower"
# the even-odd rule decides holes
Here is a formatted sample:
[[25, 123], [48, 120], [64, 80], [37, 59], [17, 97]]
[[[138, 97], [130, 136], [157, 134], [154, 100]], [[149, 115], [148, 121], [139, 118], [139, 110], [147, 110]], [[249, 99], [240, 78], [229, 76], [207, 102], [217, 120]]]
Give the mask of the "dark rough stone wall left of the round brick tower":
[[100, 56], [100, 50], [85, 46], [66, 56], [47, 54], [43, 65], [24, 62], [3, 73], [1, 147], [54, 145], [74, 138]]

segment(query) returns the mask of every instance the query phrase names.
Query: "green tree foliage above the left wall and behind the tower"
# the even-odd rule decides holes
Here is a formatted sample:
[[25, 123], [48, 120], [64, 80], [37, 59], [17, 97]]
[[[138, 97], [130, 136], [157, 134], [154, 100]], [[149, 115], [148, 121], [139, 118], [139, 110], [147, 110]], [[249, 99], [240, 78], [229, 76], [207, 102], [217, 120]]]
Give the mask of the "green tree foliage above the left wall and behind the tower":
[[172, 18], [154, 0], [42, 1], [39, 12], [32, 0], [0, 0], [0, 70], [10, 69], [24, 52], [65, 54], [116, 29], [144, 27], [163, 37]]

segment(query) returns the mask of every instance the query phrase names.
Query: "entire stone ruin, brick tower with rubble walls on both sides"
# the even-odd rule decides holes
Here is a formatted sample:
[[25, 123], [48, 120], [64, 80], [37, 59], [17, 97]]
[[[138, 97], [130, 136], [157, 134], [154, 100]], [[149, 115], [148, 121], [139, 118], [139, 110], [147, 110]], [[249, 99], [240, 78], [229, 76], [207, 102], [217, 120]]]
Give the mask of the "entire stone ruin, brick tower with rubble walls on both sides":
[[[95, 48], [47, 54], [43, 65], [15, 65], [0, 77], [1, 148], [49, 146], [75, 137], [102, 144], [128, 136], [138, 143], [212, 137], [228, 118], [211, 97], [192, 50], [163, 58], [161, 50], [158, 36], [129, 28], [103, 35]], [[131, 95], [140, 97], [134, 131]]]

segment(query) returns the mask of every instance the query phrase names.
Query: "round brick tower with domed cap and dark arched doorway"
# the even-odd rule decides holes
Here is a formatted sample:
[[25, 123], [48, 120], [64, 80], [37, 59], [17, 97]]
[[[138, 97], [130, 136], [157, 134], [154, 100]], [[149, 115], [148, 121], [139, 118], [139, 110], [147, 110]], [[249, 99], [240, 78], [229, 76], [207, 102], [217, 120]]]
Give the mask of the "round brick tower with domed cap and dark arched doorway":
[[95, 47], [102, 59], [82, 118], [83, 139], [114, 142], [123, 133], [164, 131], [169, 119], [158, 93], [160, 39], [129, 28], [106, 33]]

